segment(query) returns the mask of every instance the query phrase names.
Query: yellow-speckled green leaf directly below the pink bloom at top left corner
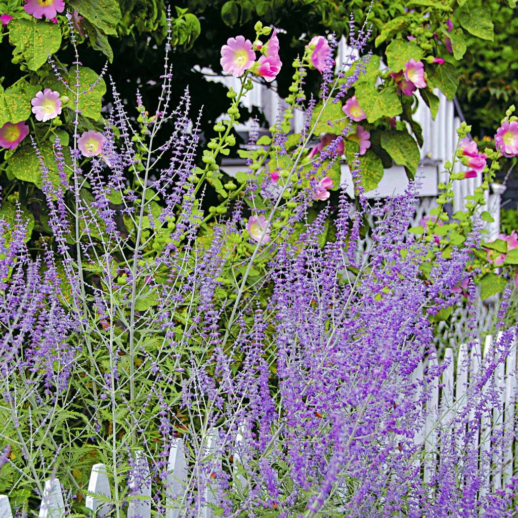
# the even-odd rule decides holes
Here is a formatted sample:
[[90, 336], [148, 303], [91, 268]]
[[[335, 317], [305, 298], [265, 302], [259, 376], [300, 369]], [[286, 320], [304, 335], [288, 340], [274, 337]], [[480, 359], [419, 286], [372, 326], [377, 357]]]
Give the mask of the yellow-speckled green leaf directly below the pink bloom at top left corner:
[[57, 23], [42, 20], [15, 19], [9, 22], [9, 41], [13, 54], [22, 55], [30, 70], [46, 63], [49, 54], [61, 46], [61, 29]]

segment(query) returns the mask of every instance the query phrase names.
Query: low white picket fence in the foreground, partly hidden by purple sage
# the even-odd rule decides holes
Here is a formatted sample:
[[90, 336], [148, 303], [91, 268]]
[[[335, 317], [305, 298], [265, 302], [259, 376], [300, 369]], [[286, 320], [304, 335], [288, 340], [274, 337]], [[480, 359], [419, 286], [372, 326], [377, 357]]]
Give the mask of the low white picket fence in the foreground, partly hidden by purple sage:
[[[474, 374], [478, 372], [482, 365], [483, 359], [488, 353], [494, 349], [494, 338], [488, 335], [484, 341], [484, 347], [480, 342], [475, 342], [470, 351], [466, 344], [462, 344], [458, 352], [454, 353], [452, 348], [445, 350], [443, 365], [446, 365], [442, 372], [441, 379], [435, 379], [433, 384], [428, 387], [430, 398], [426, 402], [426, 422], [418, 433], [414, 436], [414, 444], [421, 445], [423, 448], [422, 473], [423, 482], [428, 483], [436, 469], [436, 462], [431, 462], [436, 454], [440, 455], [441, 445], [440, 438], [437, 434], [437, 425], [440, 422], [449, 422], [452, 412], [461, 411], [466, 405], [466, 392], [468, 387], [473, 386], [475, 382]], [[499, 338], [497, 339], [499, 340]], [[499, 405], [488, 408], [481, 415], [480, 433], [476, 440], [478, 441], [479, 455], [482, 458], [491, 450], [492, 433], [497, 433], [503, 427], [507, 437], [515, 437], [518, 433], [518, 423], [515, 419], [516, 406], [516, 334], [505, 363], [500, 363], [496, 369], [493, 378], [488, 379], [482, 389], [481, 396], [484, 397], [488, 391], [496, 389], [499, 394]], [[411, 382], [419, 384], [424, 379], [424, 374], [428, 365], [437, 365], [437, 360], [432, 359], [428, 362], [424, 361], [415, 368], [412, 373]], [[416, 401], [419, 394], [416, 393]], [[470, 422], [473, 422], [474, 414], [470, 415]], [[244, 487], [246, 480], [241, 474], [237, 474], [237, 466], [240, 462], [240, 442], [243, 440], [242, 435], [238, 434], [235, 444], [234, 455], [234, 484]], [[205, 452], [207, 458], [216, 455], [217, 434], [213, 432], [209, 435]], [[518, 473], [518, 441], [511, 440], [508, 447], [500, 454], [493, 453], [494, 469], [487, 477], [491, 477], [488, 483], [491, 484], [493, 491], [505, 488], [513, 477]], [[216, 457], [217, 458], [217, 457]], [[440, 463], [440, 459], [436, 461]], [[221, 461], [217, 461], [221, 466]], [[134, 499], [131, 500], [127, 518], [150, 518], [151, 517], [151, 476], [149, 465], [143, 452], [137, 452], [135, 457], [135, 466], [139, 472], [139, 487], [135, 490]], [[166, 511], [165, 518], [178, 518], [180, 510], [178, 502], [183, 494], [184, 481], [188, 477], [188, 463], [184, 453], [184, 444], [182, 439], [176, 438], [172, 441], [168, 466], [168, 476], [166, 479]], [[134, 488], [135, 481], [130, 478], [128, 487]], [[430, 487], [433, 491], [433, 487]], [[481, 490], [482, 493], [487, 491]], [[213, 518], [214, 512], [212, 505], [217, 506], [216, 492], [212, 490], [210, 484], [204, 488], [205, 506], [202, 512], [202, 518]], [[107, 468], [104, 464], [95, 464], [92, 467], [90, 482], [88, 485], [88, 496], [85, 506], [96, 512], [96, 516], [104, 517], [111, 512], [112, 504], [107, 503], [112, 498], [112, 492], [107, 476]], [[176, 507], [175, 507], [176, 506]], [[64, 503], [62, 487], [59, 479], [51, 479], [45, 482], [45, 491], [41, 500], [38, 518], [65, 518], [66, 507]], [[12, 512], [9, 504], [9, 498], [6, 495], [0, 496], [0, 518], [12, 518]]]

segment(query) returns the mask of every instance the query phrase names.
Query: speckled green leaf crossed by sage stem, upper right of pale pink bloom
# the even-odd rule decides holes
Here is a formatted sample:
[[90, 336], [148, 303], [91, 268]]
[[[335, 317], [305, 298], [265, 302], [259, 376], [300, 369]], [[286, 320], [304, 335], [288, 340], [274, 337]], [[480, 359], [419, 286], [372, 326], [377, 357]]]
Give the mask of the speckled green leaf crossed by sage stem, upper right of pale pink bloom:
[[[76, 73], [74, 70], [70, 71], [70, 74], [65, 79], [68, 80], [70, 85], [74, 85], [76, 82]], [[98, 120], [100, 118], [101, 109], [101, 98], [106, 93], [106, 83], [101, 78], [95, 87], [90, 90], [92, 84], [98, 79], [98, 75], [91, 68], [80, 66], [79, 67], [79, 105], [78, 108], [81, 110], [81, 114], [84, 117]], [[53, 75], [49, 76], [45, 81], [46, 88], [56, 90], [60, 95], [67, 95], [68, 97], [74, 97], [74, 93], [70, 92], [65, 88], [63, 83]], [[73, 87], [74, 88], [74, 87]], [[82, 92], [85, 91], [83, 94]], [[75, 105], [74, 105], [75, 106]]]

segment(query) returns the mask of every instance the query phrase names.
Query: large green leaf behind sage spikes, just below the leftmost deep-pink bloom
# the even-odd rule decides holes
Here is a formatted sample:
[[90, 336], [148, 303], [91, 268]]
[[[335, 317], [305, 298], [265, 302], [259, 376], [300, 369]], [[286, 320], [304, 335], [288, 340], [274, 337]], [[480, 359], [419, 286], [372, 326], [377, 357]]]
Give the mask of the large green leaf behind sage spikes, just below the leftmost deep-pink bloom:
[[[53, 185], [59, 185], [60, 176], [55, 164], [55, 155], [52, 144], [50, 142], [45, 142], [44, 145], [40, 147], [40, 151], [45, 161], [45, 165], [49, 168], [50, 181]], [[65, 155], [65, 163], [70, 165], [71, 160], [68, 148], [63, 147], [63, 154]], [[10, 157], [6, 172], [15, 178], [18, 178], [18, 180], [34, 183], [41, 189], [43, 186], [43, 180], [41, 179], [40, 168], [41, 164], [36, 156], [34, 148], [30, 144], [27, 144], [18, 148]], [[70, 176], [70, 170], [68, 168], [65, 168], [65, 170], [68, 178]]]

